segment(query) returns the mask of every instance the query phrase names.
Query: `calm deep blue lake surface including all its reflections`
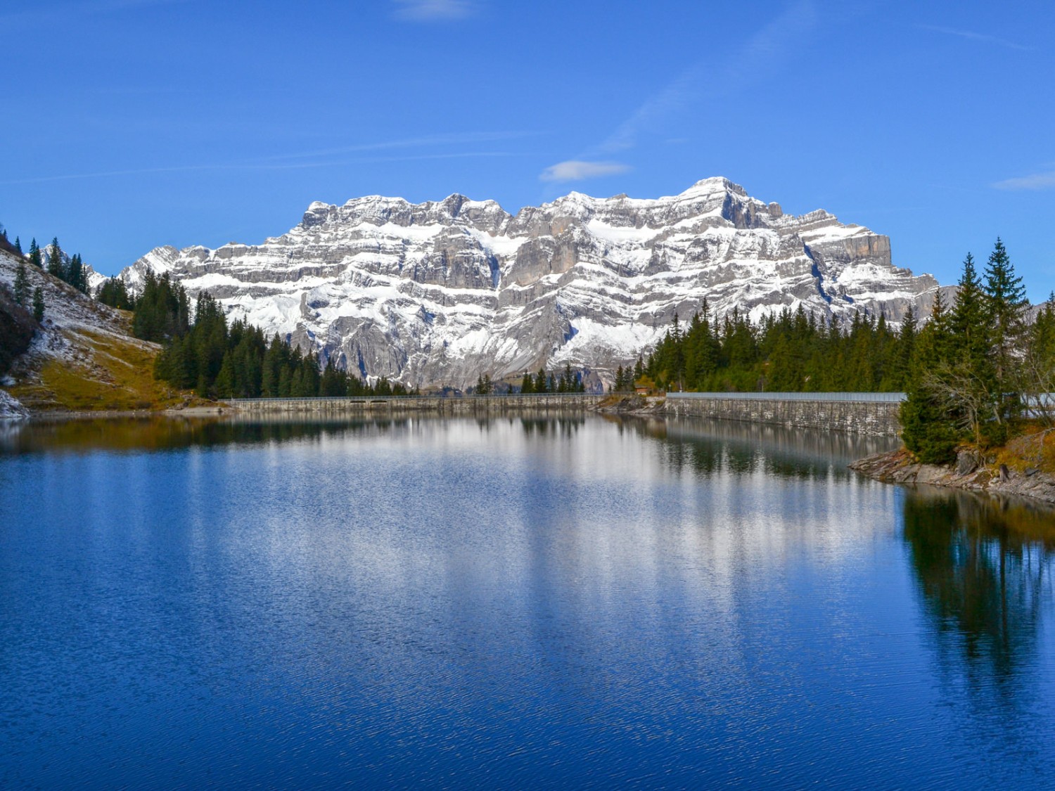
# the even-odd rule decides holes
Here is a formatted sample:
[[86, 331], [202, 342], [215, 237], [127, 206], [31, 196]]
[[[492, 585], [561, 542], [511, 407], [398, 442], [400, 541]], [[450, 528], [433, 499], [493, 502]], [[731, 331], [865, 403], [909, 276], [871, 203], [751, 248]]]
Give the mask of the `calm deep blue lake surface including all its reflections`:
[[0, 427], [0, 787], [1050, 788], [1055, 515], [886, 446]]

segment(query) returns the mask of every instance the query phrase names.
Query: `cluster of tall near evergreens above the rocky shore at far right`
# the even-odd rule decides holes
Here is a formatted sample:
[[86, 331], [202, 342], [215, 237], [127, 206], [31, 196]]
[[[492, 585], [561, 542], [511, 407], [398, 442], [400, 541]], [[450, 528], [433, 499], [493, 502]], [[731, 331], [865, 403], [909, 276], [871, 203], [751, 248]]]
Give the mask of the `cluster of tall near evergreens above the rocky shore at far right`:
[[923, 462], [952, 461], [964, 442], [1001, 445], [1028, 419], [1055, 423], [1031, 408], [1055, 391], [1055, 294], [1027, 322], [1025, 288], [999, 238], [982, 274], [967, 255], [958, 285], [919, 333], [901, 407], [905, 447]]

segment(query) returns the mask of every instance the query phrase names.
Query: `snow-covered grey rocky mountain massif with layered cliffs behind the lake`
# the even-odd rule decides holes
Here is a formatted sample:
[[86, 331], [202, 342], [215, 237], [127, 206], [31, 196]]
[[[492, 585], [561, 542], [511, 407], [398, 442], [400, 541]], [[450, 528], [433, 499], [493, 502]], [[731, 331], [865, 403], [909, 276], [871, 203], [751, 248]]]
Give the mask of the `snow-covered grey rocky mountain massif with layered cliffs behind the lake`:
[[928, 312], [938, 286], [893, 266], [886, 236], [785, 215], [725, 178], [656, 199], [573, 192], [515, 216], [462, 195], [314, 202], [263, 244], [160, 247], [121, 277], [135, 289], [148, 269], [341, 366], [420, 386], [607, 372], [704, 297], [717, 316], [803, 305], [900, 321], [908, 305]]

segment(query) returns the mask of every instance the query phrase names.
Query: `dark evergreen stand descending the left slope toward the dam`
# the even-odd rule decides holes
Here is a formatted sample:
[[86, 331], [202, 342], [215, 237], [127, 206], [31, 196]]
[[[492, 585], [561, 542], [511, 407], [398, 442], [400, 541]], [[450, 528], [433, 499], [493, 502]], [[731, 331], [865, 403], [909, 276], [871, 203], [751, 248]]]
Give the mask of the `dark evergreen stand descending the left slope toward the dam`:
[[187, 291], [167, 274], [148, 273], [135, 300], [133, 331], [164, 343], [154, 377], [205, 399], [314, 398], [318, 396], [405, 396], [402, 384], [382, 378], [373, 385], [340, 370], [330, 359], [292, 348], [277, 334], [244, 320], [228, 325], [219, 303], [203, 292], [189, 317]]

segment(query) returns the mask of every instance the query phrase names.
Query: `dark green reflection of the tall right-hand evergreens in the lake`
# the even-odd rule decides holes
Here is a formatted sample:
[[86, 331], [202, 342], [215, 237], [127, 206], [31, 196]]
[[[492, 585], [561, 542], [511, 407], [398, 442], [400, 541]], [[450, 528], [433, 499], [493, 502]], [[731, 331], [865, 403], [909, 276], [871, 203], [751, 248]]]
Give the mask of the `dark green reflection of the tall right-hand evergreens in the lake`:
[[1036, 655], [1052, 601], [1055, 514], [920, 487], [905, 495], [904, 538], [946, 669], [1011, 682]]

